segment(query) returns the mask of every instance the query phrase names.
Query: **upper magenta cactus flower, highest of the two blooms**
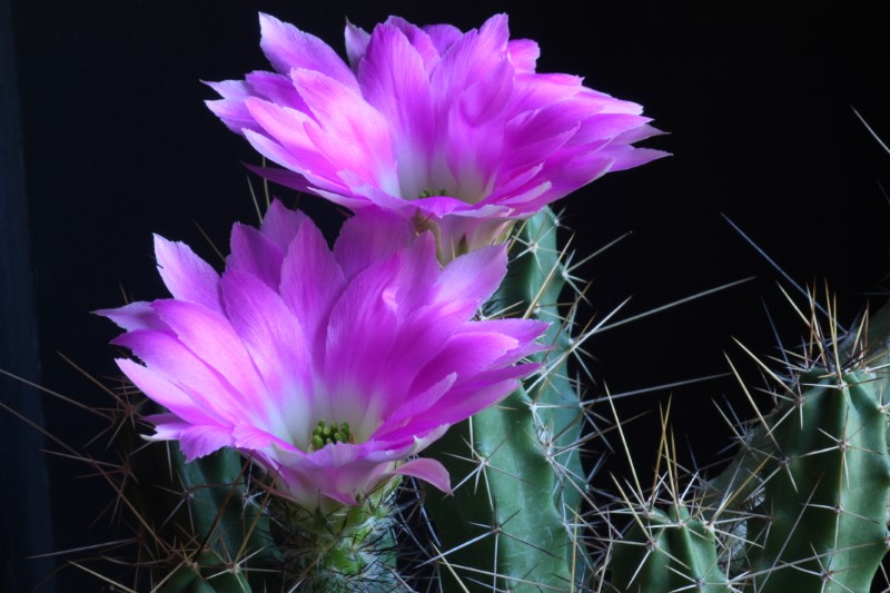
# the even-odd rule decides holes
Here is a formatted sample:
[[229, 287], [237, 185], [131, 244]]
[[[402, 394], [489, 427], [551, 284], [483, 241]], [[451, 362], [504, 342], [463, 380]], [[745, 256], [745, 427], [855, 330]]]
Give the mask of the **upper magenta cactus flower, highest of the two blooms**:
[[347, 24], [348, 65], [316, 37], [259, 20], [276, 72], [210, 83], [222, 99], [208, 106], [286, 169], [264, 175], [354, 210], [395, 210], [452, 256], [664, 155], [631, 146], [657, 134], [639, 105], [535, 72], [537, 43], [510, 40], [505, 14], [466, 33], [397, 17], [370, 34]]

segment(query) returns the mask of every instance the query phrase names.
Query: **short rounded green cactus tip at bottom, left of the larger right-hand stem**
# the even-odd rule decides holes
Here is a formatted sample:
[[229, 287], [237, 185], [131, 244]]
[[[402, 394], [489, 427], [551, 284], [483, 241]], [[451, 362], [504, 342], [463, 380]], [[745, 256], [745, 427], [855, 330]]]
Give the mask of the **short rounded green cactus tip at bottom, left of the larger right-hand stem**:
[[612, 585], [627, 593], [701, 591], [729, 593], [729, 580], [718, 561], [713, 530], [692, 518], [685, 506], [654, 510], [634, 522], [615, 544]]

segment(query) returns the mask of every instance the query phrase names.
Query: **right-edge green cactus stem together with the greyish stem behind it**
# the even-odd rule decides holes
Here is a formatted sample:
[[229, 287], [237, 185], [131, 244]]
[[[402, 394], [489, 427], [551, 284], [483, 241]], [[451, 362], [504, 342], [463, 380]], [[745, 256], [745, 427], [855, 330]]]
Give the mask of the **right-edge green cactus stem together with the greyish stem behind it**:
[[783, 383], [703, 501], [750, 516], [750, 544], [730, 561], [754, 590], [868, 591], [888, 542], [890, 308], [844, 339], [833, 319], [828, 333], [810, 325], [817, 359]]

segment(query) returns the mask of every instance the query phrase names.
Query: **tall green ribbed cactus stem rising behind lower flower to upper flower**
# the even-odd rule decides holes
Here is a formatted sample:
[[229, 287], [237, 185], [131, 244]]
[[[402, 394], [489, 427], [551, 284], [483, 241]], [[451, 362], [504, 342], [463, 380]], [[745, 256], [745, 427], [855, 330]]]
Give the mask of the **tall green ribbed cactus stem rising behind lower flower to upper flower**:
[[[490, 303], [512, 315], [533, 307], [534, 317], [552, 322], [544, 339], [553, 347], [537, 356], [545, 377], [453, 427], [427, 453], [453, 481], [467, 476], [467, 459], [475, 463], [454, 496], [426, 501], [445, 560], [455, 571], [468, 569], [461, 580], [469, 590], [567, 591], [585, 573], [575, 536], [583, 530], [574, 528], [586, 482], [577, 447], [584, 409], [565, 364], [572, 342], [557, 310], [565, 268], [556, 228], [550, 210], [523, 226], [513, 248], [522, 255]], [[451, 571], [442, 574], [451, 579]]]

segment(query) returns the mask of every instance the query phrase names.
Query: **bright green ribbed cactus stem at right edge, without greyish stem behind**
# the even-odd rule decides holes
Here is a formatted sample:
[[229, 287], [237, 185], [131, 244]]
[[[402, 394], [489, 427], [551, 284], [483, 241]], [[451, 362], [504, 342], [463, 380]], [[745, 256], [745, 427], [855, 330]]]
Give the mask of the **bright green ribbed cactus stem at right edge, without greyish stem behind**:
[[773, 425], [769, 465], [779, 471], [753, 508], [768, 517], [758, 591], [869, 590], [887, 552], [890, 500], [887, 416], [872, 379], [808, 373], [800, 409]]

